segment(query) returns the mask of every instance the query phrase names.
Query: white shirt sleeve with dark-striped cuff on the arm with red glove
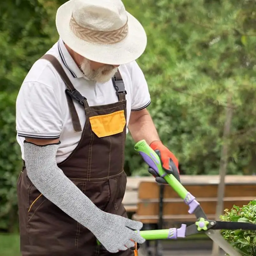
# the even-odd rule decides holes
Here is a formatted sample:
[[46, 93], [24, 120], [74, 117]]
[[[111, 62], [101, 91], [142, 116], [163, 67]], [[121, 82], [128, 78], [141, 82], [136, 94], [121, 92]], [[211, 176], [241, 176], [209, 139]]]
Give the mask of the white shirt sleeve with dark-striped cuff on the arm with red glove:
[[151, 103], [148, 84], [138, 63], [132, 63], [132, 111], [147, 108]]

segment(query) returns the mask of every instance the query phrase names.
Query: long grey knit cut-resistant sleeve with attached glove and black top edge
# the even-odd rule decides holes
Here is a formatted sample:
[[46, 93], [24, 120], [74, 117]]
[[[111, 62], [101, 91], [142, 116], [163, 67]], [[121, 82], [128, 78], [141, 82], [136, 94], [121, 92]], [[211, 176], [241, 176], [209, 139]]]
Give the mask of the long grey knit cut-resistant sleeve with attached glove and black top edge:
[[139, 232], [133, 231], [142, 228], [141, 222], [101, 211], [65, 176], [56, 163], [59, 145], [60, 142], [38, 146], [24, 141], [24, 160], [34, 186], [63, 212], [88, 228], [109, 252], [134, 246], [130, 239], [144, 243]]

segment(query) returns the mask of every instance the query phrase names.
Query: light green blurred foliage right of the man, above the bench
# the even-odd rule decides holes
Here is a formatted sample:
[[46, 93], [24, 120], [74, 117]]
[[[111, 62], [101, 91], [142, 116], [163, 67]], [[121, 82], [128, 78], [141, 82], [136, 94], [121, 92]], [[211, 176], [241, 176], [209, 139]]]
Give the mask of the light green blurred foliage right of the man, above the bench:
[[[145, 0], [137, 9], [129, 3], [148, 34], [139, 62], [152, 96], [150, 113], [181, 171], [218, 173], [225, 108], [232, 94], [228, 173], [252, 174], [256, 1]], [[143, 16], [140, 10], [145, 10]]]

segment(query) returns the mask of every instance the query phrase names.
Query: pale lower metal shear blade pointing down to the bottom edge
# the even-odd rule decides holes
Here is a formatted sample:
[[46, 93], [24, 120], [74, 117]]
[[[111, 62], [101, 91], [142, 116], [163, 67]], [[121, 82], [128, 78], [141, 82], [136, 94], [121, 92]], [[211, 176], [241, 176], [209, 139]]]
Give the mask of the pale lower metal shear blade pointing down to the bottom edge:
[[209, 236], [213, 242], [218, 244], [220, 248], [223, 249], [224, 252], [228, 253], [231, 256], [242, 256], [236, 249], [230, 245], [221, 235], [220, 232], [217, 230], [207, 230], [205, 232], [207, 236]]

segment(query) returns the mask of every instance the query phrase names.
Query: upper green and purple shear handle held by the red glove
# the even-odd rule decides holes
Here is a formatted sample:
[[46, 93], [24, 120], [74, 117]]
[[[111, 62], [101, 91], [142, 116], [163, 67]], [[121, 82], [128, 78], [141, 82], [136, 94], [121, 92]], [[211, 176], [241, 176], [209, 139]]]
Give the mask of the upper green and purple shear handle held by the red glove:
[[143, 157], [144, 161], [152, 169], [154, 169], [158, 173], [159, 176], [164, 177], [166, 182], [176, 191], [176, 193], [183, 200], [186, 199], [186, 196], [188, 195], [188, 190], [186, 188], [184, 188], [181, 185], [181, 183], [172, 174], [166, 174], [166, 172], [163, 170], [159, 156], [156, 154], [156, 152], [152, 148], [150, 148], [150, 146], [147, 144], [146, 140], [138, 141], [135, 144], [134, 149], [140, 153], [140, 155]]

